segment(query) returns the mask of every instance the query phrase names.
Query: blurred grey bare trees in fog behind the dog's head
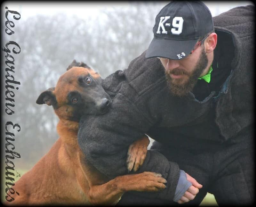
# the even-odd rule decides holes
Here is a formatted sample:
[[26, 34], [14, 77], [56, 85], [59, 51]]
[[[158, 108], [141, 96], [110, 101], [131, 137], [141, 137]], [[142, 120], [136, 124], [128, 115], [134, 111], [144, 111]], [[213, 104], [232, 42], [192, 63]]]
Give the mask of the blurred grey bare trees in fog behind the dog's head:
[[[73, 59], [87, 63], [102, 78], [127, 68], [147, 49], [155, 16], [163, 5], [107, 7], [88, 19], [36, 15], [15, 25], [14, 41], [21, 48], [14, 56], [15, 79], [21, 85], [15, 91], [15, 115], [11, 117], [21, 126], [15, 139], [15, 150], [21, 155], [15, 160], [16, 167], [32, 167], [58, 138], [58, 118], [52, 107], [36, 104], [39, 94], [56, 85]], [[10, 116], [4, 115], [4, 120]]]

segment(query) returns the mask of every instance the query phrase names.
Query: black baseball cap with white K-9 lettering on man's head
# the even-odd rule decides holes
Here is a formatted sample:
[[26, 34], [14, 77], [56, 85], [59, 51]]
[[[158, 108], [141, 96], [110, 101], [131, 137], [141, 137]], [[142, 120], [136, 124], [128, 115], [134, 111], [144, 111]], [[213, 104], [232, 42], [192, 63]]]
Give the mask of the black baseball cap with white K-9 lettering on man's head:
[[200, 37], [213, 30], [212, 14], [201, 1], [172, 1], [157, 14], [146, 58], [187, 57]]

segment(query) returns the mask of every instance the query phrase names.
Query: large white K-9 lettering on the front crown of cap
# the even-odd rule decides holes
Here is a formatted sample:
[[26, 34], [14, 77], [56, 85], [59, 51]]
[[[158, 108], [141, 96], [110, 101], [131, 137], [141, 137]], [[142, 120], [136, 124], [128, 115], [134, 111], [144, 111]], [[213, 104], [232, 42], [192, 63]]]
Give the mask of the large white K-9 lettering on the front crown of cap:
[[[156, 33], [157, 34], [167, 34], [168, 32], [165, 30], [164, 27], [164, 23], [170, 18], [170, 16], [165, 16], [165, 17], [160, 17], [160, 21], [158, 24], [158, 28]], [[172, 19], [172, 26], [173, 28], [171, 29], [172, 34], [175, 35], [180, 35], [182, 32], [182, 28], [183, 28], [183, 22], [184, 19], [182, 17], [174, 17]], [[165, 26], [171, 26], [170, 23], [165, 23]], [[162, 29], [162, 32], [160, 31], [160, 29]]]

